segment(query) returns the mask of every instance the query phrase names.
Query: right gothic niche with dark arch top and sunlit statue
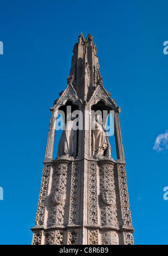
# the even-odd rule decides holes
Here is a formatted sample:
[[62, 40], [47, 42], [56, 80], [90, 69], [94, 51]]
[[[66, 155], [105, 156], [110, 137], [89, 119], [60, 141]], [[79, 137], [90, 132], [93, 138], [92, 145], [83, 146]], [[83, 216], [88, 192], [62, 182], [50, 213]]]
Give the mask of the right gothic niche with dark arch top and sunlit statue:
[[112, 109], [103, 101], [98, 101], [97, 104], [92, 105], [91, 110], [94, 110], [91, 112], [92, 156], [94, 159], [111, 158], [111, 146], [105, 126]]

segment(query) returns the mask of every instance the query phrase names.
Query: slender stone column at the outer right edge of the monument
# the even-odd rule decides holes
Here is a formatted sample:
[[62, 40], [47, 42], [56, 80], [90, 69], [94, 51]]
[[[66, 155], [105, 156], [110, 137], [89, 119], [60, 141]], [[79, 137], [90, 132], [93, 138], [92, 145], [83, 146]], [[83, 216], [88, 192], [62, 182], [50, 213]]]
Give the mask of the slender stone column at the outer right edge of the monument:
[[115, 145], [116, 145], [116, 157], [118, 160], [125, 160], [124, 148], [122, 144], [122, 133], [120, 129], [119, 116], [120, 108], [119, 106], [114, 109], [114, 136], [115, 136]]

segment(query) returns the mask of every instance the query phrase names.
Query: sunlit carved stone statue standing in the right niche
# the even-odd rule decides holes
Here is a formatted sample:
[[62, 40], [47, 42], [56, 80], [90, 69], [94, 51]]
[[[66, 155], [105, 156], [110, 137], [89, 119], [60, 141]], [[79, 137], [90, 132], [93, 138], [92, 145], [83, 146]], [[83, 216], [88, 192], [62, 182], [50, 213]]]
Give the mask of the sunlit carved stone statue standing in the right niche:
[[95, 115], [95, 120], [92, 122], [92, 156], [94, 158], [111, 157], [109, 138], [100, 115]]

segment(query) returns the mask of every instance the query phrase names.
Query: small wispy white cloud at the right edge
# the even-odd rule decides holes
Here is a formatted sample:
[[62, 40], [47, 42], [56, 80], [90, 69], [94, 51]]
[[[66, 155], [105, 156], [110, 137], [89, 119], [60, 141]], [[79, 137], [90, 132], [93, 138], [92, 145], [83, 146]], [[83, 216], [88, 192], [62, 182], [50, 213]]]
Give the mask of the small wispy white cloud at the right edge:
[[158, 152], [168, 149], [168, 130], [165, 133], [161, 133], [157, 136], [153, 150]]

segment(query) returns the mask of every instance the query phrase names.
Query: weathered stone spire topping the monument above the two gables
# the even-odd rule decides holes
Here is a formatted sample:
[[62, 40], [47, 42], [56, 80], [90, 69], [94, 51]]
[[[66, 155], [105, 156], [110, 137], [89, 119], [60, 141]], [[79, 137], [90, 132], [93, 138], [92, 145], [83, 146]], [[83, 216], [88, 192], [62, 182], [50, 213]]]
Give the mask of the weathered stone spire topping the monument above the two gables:
[[77, 96], [83, 101], [90, 100], [96, 86], [99, 83], [102, 84], [96, 52], [97, 49], [92, 41], [92, 36], [88, 34], [85, 41], [81, 33], [78, 37], [78, 43], [73, 48], [69, 76], [73, 77], [73, 87]]

